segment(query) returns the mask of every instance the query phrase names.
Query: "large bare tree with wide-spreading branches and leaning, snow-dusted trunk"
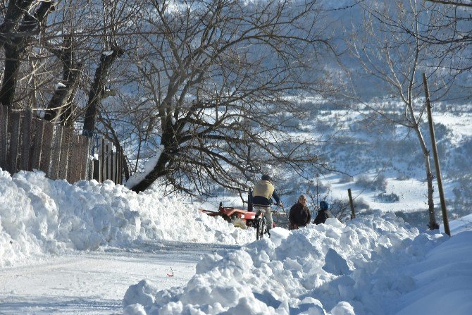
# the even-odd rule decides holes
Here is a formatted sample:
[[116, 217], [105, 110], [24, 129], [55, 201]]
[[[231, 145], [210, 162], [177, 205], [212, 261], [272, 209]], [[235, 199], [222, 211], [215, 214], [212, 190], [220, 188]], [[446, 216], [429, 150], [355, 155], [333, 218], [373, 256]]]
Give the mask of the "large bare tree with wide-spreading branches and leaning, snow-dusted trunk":
[[151, 1], [141, 12], [130, 89], [145, 111], [139, 141], [161, 153], [132, 190], [164, 178], [187, 192], [242, 191], [248, 147], [255, 172], [322, 166], [313, 136], [290, 125], [304, 116], [297, 95], [332, 91], [317, 1]]

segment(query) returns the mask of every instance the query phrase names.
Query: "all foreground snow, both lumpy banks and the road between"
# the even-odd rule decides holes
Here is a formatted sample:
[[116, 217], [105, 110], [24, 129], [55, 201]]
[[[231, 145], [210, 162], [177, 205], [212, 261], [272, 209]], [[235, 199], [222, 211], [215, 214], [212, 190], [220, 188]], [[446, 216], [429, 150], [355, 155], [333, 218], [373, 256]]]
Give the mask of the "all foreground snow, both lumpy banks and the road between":
[[[254, 241], [254, 230], [195, 204], [111, 182], [1, 172], [0, 196], [5, 314], [107, 314], [121, 302], [123, 314], [472, 309], [470, 216], [451, 222], [451, 238], [392, 212], [365, 211], [345, 223], [275, 228], [271, 239]], [[175, 278], [167, 276], [172, 266]]]

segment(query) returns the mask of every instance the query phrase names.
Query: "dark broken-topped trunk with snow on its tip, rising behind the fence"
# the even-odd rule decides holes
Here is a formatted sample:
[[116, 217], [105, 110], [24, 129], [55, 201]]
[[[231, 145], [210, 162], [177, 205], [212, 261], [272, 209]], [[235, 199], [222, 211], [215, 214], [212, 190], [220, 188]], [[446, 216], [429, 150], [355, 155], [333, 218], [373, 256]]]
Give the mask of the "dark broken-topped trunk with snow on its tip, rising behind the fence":
[[116, 59], [123, 55], [123, 50], [119, 48], [113, 48], [111, 54], [102, 53], [100, 56], [100, 65], [95, 70], [94, 82], [89, 92], [89, 100], [87, 102], [87, 110], [85, 111], [84, 128], [82, 131], [83, 135], [92, 137], [95, 123], [97, 123], [97, 114], [99, 111], [99, 104], [104, 95], [105, 82], [108, 80], [111, 66]]

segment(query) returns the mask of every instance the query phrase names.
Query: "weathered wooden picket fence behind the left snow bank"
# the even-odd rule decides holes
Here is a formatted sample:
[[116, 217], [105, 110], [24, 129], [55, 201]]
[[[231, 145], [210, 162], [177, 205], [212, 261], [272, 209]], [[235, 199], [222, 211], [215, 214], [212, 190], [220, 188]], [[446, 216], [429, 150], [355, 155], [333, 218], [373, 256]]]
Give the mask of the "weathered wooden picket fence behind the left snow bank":
[[0, 106], [0, 167], [11, 174], [37, 169], [69, 183], [92, 178], [122, 183], [123, 152], [113, 152], [107, 140], [98, 146], [93, 142], [73, 129], [33, 117], [32, 111]]

